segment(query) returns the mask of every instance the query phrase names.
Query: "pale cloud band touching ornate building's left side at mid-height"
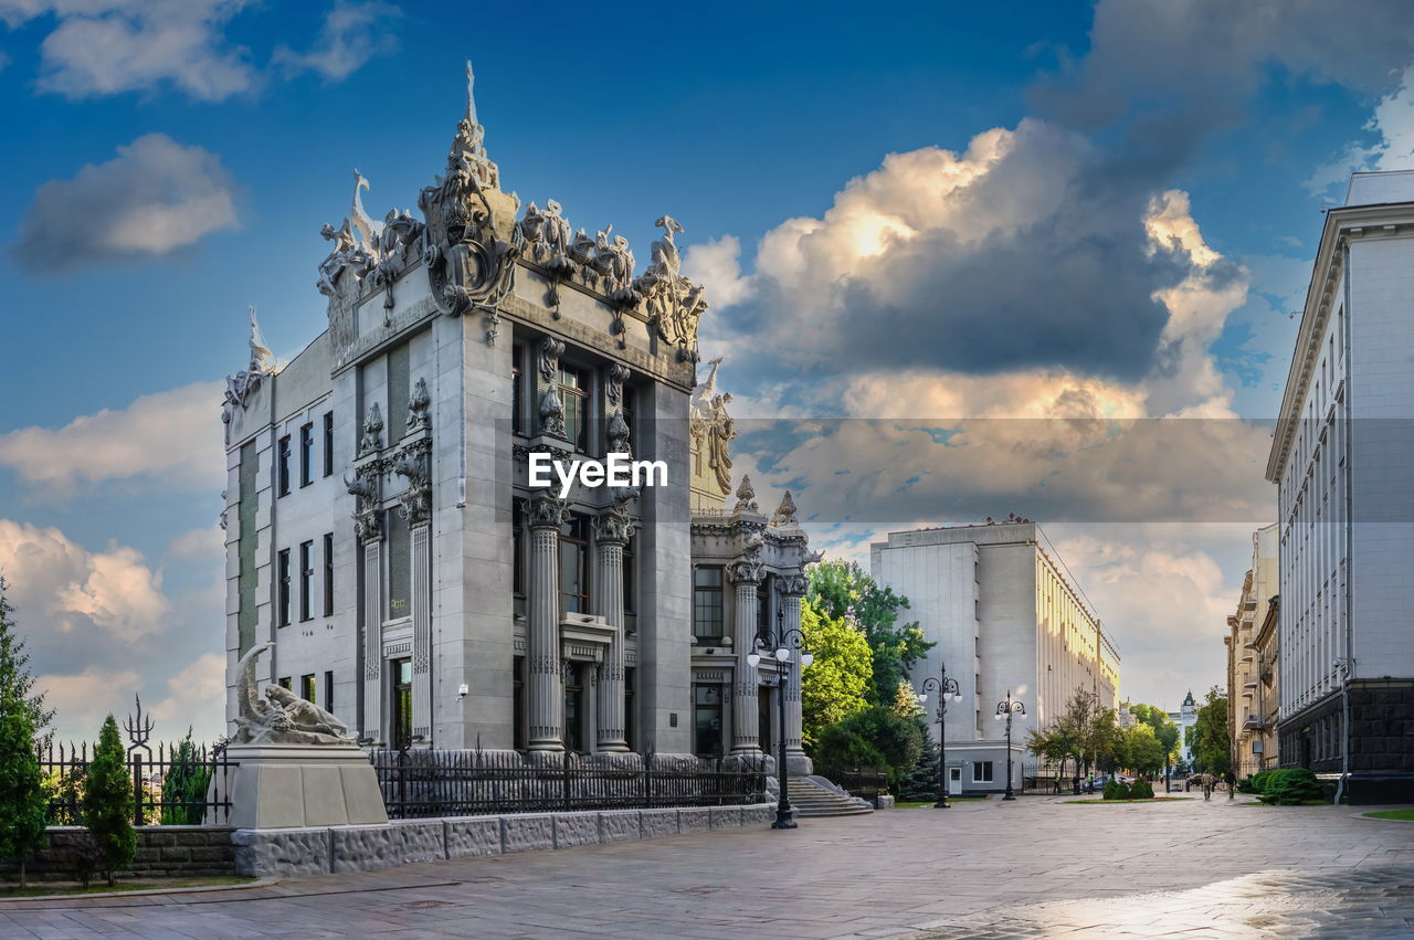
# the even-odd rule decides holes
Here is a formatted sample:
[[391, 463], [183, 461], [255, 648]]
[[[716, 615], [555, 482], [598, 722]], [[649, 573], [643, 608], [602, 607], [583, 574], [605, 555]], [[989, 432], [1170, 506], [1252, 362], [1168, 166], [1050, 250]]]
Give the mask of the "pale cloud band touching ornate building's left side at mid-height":
[[81, 485], [146, 476], [167, 486], [219, 490], [221, 383], [197, 382], [103, 409], [62, 428], [0, 434], [0, 466], [55, 495]]

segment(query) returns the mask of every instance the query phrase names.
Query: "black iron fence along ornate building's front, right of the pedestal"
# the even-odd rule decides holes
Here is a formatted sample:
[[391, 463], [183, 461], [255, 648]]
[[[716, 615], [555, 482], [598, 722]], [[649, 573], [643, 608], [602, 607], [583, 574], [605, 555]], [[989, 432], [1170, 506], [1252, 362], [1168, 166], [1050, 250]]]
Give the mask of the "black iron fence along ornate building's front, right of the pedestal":
[[764, 762], [659, 762], [566, 752], [372, 751], [389, 818], [744, 806], [766, 799]]

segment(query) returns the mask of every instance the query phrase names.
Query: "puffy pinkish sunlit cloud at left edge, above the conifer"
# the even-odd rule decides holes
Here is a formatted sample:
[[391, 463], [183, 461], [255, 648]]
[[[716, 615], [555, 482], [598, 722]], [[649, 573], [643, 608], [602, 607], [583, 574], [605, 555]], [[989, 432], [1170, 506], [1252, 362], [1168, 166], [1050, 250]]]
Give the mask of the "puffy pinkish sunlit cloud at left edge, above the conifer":
[[83, 638], [90, 629], [136, 640], [167, 625], [161, 571], [140, 551], [90, 553], [54, 527], [0, 519], [0, 571], [24, 622]]

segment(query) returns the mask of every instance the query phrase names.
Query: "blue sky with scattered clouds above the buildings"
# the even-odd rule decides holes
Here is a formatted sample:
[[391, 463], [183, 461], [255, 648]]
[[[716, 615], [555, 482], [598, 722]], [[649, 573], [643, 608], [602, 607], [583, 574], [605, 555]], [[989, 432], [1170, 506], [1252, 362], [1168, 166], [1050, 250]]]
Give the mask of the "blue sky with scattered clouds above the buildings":
[[[132, 691], [216, 731], [219, 380], [246, 307], [283, 358], [322, 329], [320, 225], [355, 167], [375, 215], [414, 206], [467, 58], [505, 188], [612, 222], [639, 257], [653, 219], [684, 223], [744, 420], [936, 417], [942, 448], [957, 420], [1076, 400], [1182, 414], [1239, 427], [1196, 433], [1249, 448], [1232, 486], [1256, 505], [1243, 420], [1280, 400], [1324, 199], [1406, 165], [1414, 127], [1401, 4], [1277, 7], [0, 0], [0, 567], [61, 732]], [[846, 438], [740, 465], [802, 488], [817, 544], [853, 557], [889, 526], [1044, 507], [1133, 653], [1127, 690], [1176, 705], [1220, 678], [1261, 507], [1219, 524], [1079, 466], [973, 492], [905, 461], [891, 492], [919, 502], [844, 519], [831, 479], [868, 475], [840, 472]], [[1175, 667], [1193, 625], [1208, 646]]]

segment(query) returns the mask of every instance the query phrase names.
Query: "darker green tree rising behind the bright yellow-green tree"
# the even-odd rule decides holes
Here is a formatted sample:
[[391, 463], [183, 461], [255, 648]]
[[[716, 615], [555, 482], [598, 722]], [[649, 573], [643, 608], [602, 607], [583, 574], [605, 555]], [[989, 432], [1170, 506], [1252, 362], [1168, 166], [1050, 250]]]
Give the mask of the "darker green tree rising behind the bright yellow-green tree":
[[906, 681], [913, 664], [933, 647], [916, 622], [898, 623], [908, 598], [880, 587], [853, 561], [814, 565], [807, 598], [823, 616], [854, 622], [864, 632], [872, 659], [872, 705], [891, 704], [899, 681]]

